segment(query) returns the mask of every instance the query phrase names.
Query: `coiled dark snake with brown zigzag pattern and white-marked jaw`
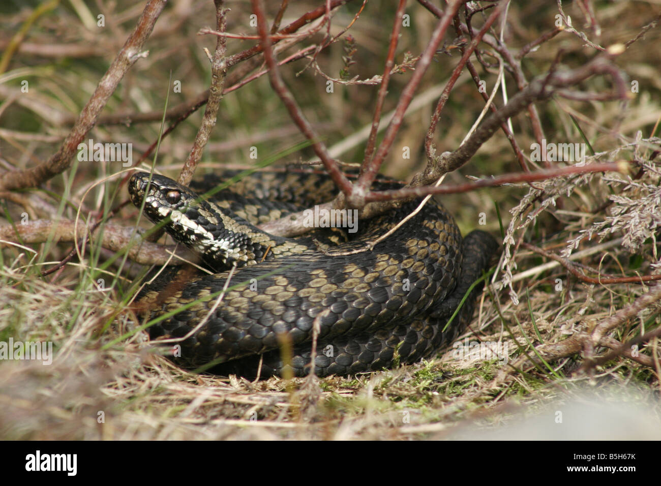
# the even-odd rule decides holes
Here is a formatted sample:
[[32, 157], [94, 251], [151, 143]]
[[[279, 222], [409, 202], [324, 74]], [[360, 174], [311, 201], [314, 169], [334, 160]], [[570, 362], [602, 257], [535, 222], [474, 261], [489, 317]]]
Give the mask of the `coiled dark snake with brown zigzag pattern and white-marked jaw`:
[[[357, 231], [317, 227], [300, 237], [276, 237], [255, 225], [331, 200], [331, 179], [313, 169], [256, 172], [208, 200], [198, 196], [233, 175], [206, 176], [186, 187], [161, 175], [150, 182], [148, 173], [137, 172], [128, 182], [132, 202], [147, 218], [166, 220], [167, 233], [215, 272], [167, 267], [138, 296], [141, 312], [160, 319], [149, 327], [151, 339], [182, 338], [195, 329], [180, 342], [178, 364], [213, 364], [215, 374], [246, 377], [289, 367], [305, 376], [316, 319], [315, 373], [356, 374], [432, 356], [470, 322], [480, 284], [444, 329], [498, 245], [484, 231], [462, 239], [433, 198], [371, 251], [352, 253], [394, 227], [419, 200], [358, 220]], [[379, 179], [372, 189], [399, 187]], [[229, 289], [214, 309], [233, 265]]]

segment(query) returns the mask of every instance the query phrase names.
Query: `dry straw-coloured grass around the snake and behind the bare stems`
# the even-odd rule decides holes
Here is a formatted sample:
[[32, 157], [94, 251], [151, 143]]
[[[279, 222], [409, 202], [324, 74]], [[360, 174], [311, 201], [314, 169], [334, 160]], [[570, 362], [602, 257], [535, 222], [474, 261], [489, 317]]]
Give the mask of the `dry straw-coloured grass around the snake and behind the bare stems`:
[[[107, 4], [110, 9], [110, 3], [100, 3]], [[181, 1], [175, 4], [159, 23], [162, 32], [154, 34], [149, 58], [137, 63], [130, 71], [120, 85], [120, 92], [106, 108], [107, 113], [163, 109], [170, 69], [173, 69], [173, 79], [184, 81], [182, 94], [177, 95], [180, 98], [173, 100], [171, 93], [172, 103], [190, 99], [206, 87], [209, 65], [200, 46], [211, 47], [213, 41], [198, 37], [195, 32], [210, 23], [200, 19], [213, 18], [212, 2]], [[112, 10], [106, 13], [109, 24], [105, 30], [92, 34], [82, 26], [79, 31], [71, 29], [67, 26], [80, 22], [79, 13], [60, 8], [57, 16], [36, 22], [29, 40], [46, 44], [58, 32], [66, 32], [60, 42], [93, 42], [103, 52], [116, 52], [138, 11], [128, 1], [114, 5], [114, 13]], [[237, 22], [230, 26], [231, 30], [241, 31], [242, 15], [247, 16], [248, 7], [245, 3], [232, 3], [230, 7]], [[362, 78], [371, 77], [381, 69], [378, 60], [383, 59], [387, 45], [384, 38], [387, 39], [389, 32], [381, 28], [381, 21], [374, 13], [379, 12], [380, 7], [383, 5], [370, 3], [352, 31], [359, 46], [358, 62], [352, 67], [352, 74], [359, 74]], [[388, 11], [388, 8], [394, 9], [383, 7], [381, 11]], [[306, 10], [305, 5], [292, 9], [292, 18], [295, 13]], [[336, 25], [348, 24], [355, 9], [355, 6], [350, 7], [338, 14]], [[516, 42], [512, 41], [514, 45], [523, 45], [551, 28], [552, 20], [549, 19], [553, 18], [554, 9], [554, 5], [512, 5], [509, 19], [512, 36], [516, 39]], [[570, 7], [566, 9], [580, 23], [580, 12], [572, 11]], [[532, 16], [534, 10], [539, 11], [539, 17]], [[411, 13], [416, 32], [428, 32], [432, 28], [434, 19], [428, 13], [419, 7]], [[607, 46], [633, 38], [654, 13], [651, 7], [634, 2], [600, 6], [597, 14], [602, 22], [602, 44]], [[12, 32], [26, 15], [28, 9], [5, 13], [0, 24]], [[176, 35], [169, 33], [169, 28], [176, 28], [172, 30]], [[581, 142], [580, 134], [568, 116], [574, 114], [597, 152], [621, 149], [602, 156], [602, 159], [639, 157], [648, 160], [652, 149], [642, 146], [640, 138], [658, 146], [658, 140], [650, 138], [650, 134], [661, 112], [658, 102], [661, 83], [656, 69], [661, 63], [661, 54], [654, 48], [658, 46], [659, 37], [658, 29], [651, 30], [644, 40], [632, 46], [626, 58], [620, 60], [623, 68], [641, 86], [641, 92], [626, 109], [615, 102], [550, 101], [538, 106], [549, 138]], [[402, 52], [419, 52], [424, 42], [425, 36], [416, 36], [405, 30]], [[559, 48], [575, 53], [581, 49], [580, 44], [578, 38], [557, 36], [530, 56], [525, 69], [533, 74], [541, 72], [547, 69]], [[229, 48], [238, 50], [240, 47], [238, 43], [230, 43]], [[584, 52], [587, 56], [589, 53], [586, 53], [587, 50]], [[336, 73], [341, 67], [341, 55], [338, 44], [323, 54], [320, 63], [328, 67], [329, 72]], [[67, 132], [62, 118], [77, 114], [87, 101], [109, 56], [52, 59], [20, 51], [15, 54], [15, 61], [0, 83], [0, 97], [5, 100], [0, 105], [0, 126], [13, 131], [13, 135], [0, 134], [6, 142], [1, 154], [3, 167], [36, 163], [56, 149], [55, 141]], [[582, 59], [578, 54], [572, 54], [567, 62], [571, 64]], [[448, 66], [454, 61], [454, 58], [439, 56], [432, 75], [420, 92], [436, 85], [440, 79], [446, 79], [451, 69]], [[285, 70], [286, 81], [312, 122], [323, 126], [329, 145], [345, 140], [369, 124], [375, 89], [340, 87], [335, 97], [320, 96], [324, 87], [319, 77], [310, 71], [299, 77], [293, 76], [302, 67], [303, 64], [299, 63]], [[495, 79], [493, 75], [487, 76], [490, 76], [487, 79]], [[30, 100], [36, 104], [11, 95], [11, 89], [23, 77], [30, 81]], [[511, 79], [508, 82], [511, 83]], [[402, 86], [403, 81], [396, 76], [387, 99], [391, 104], [386, 105], [386, 110], [393, 106]], [[467, 83], [457, 85], [446, 108], [447, 116], [439, 126], [442, 134], [440, 148], [457, 147], [481, 109], [481, 100], [474, 91]], [[159, 153], [161, 170], [176, 173], [180, 161], [190, 149], [200, 116], [195, 114], [173, 136], [163, 140]], [[409, 115], [401, 132], [401, 145], [393, 150], [386, 173], [406, 178], [421, 168], [422, 157], [418, 155], [429, 116], [429, 106]], [[266, 79], [227, 95], [214, 132], [217, 139], [208, 149], [207, 162], [202, 167], [214, 170], [226, 165], [219, 161], [245, 165], [249, 162], [249, 147], [253, 145], [258, 147], [260, 157], [294, 145], [301, 140], [296, 132], [287, 136], [282, 132], [290, 128], [289, 123]], [[91, 137], [133, 142], [138, 151], [155, 140], [158, 128], [157, 123], [130, 127], [100, 125], [93, 130]], [[520, 145], [528, 147], [533, 138], [524, 116], [515, 120], [514, 128]], [[638, 146], [631, 145], [639, 130], [642, 137], [639, 137]], [[58, 138], [53, 142], [39, 138], [19, 140], [18, 133], [34, 134], [35, 137], [55, 134]], [[414, 154], [411, 159], [401, 159], [400, 147], [403, 145], [410, 146]], [[359, 160], [363, 147], [364, 142], [343, 152], [341, 157], [346, 161]], [[301, 153], [301, 159], [310, 156], [309, 149]], [[73, 220], [79, 208], [83, 221], [87, 220], [97, 210], [108, 210], [126, 198], [124, 188], [118, 188], [116, 181], [99, 184], [86, 194], [94, 181], [119, 170], [120, 167], [111, 165], [81, 163], [44, 188], [21, 194], [24, 197], [22, 205], [15, 200], [3, 200], [3, 224], [10, 220], [19, 223], [23, 212], [27, 212], [30, 219], [62, 216]], [[516, 162], [511, 149], [502, 134], [497, 134], [461, 173], [498, 175], [514, 170]], [[647, 196], [658, 198], [658, 192], [653, 190], [658, 188], [659, 182], [655, 171], [658, 171], [657, 165], [649, 162], [648, 170], [637, 181], [648, 184], [648, 192], [640, 186], [614, 184], [596, 175], [553, 182], [545, 186], [544, 194], [539, 197], [529, 193], [527, 186], [519, 186], [445, 198], [444, 204], [457, 216], [463, 233], [477, 227], [477, 214], [484, 212], [486, 230], [496, 234], [500, 229], [496, 205], [500, 208], [502, 225], [507, 228], [511, 220], [510, 209], [529, 198], [533, 204], [524, 214], [525, 227], [517, 228], [518, 223], [514, 224], [513, 238], [516, 240], [525, 233], [525, 241], [533, 241], [559, 254], [581, 230], [602, 221], [607, 221], [602, 229], [613, 227], [614, 223], [606, 218], [614, 214], [614, 209], [623, 210], [620, 223], [622, 218], [635, 218], [640, 212], [639, 206], [627, 205], [625, 200], [615, 200], [609, 208], [597, 213], [594, 208], [608, 202], [612, 194], [632, 201]], [[447, 183], [464, 180], [460, 175], [452, 174]], [[561, 187], [559, 184], [565, 185]], [[115, 190], [119, 191], [119, 196], [114, 194]], [[552, 199], [561, 206], [553, 206]], [[545, 210], [541, 210], [543, 206]], [[532, 218], [527, 220], [529, 214]], [[134, 225], [136, 216], [136, 210], [126, 209], [113, 221]], [[616, 244], [607, 251], [583, 257], [579, 263], [599, 268], [606, 274], [658, 272], [654, 225], [656, 220], [652, 218], [637, 226], [642, 231], [636, 240], [637, 247]], [[614, 233], [604, 233], [604, 241], [626, 237], [627, 231], [626, 225], [616, 224]], [[588, 249], [596, 243], [596, 240], [582, 241], [576, 251]], [[571, 335], [594, 328], [605, 317], [631, 304], [645, 288], [637, 284], [582, 284], [560, 266], [516, 280], [520, 272], [547, 263], [546, 259], [531, 252], [520, 250], [512, 260], [516, 263], [516, 268], [512, 268], [512, 291], [516, 292], [520, 304], [513, 304], [507, 289], [496, 282], [485, 294], [471, 332], [461, 337], [461, 341], [467, 338], [468, 343], [502, 343], [502, 349], [506, 345], [506, 358], [457, 358], [456, 350], [450, 348], [430, 362], [375, 374], [332, 376], [310, 382], [290, 382], [280, 378], [249, 382], [242, 378], [190, 374], [151, 349], [146, 333], [135, 332], [140, 323], [126, 305], [134, 292], [130, 283], [141, 271], [136, 264], [127, 262], [102, 268], [112, 255], [91, 245], [82, 261], [74, 259], [54, 275], [40, 278], [38, 272], [60, 261], [69, 251], [70, 244], [49, 242], [28, 246], [32, 251], [7, 246], [0, 253], [0, 341], [7, 342], [11, 338], [21, 342], [52, 342], [54, 359], [49, 366], [35, 361], [0, 360], [0, 438], [475, 438], [482, 433], [496, 433], [502, 430], [502, 426], [514, 426], [518, 423], [517, 417], [524, 413], [540, 413], [540, 417], [553, 420], [560, 410], [566, 417], [572, 417], [572, 414], [579, 413], [575, 410], [582, 410], [574, 408], [572, 403], [592, 403], [585, 398], [586, 389], [590, 397], [597, 397], [615, 414], [603, 413], [603, 421], [621, 420], [613, 419], [621, 417], [615, 413], [620, 410], [619, 403], [646, 403], [649, 413], [640, 416], [646, 426], [640, 429], [639, 437], [644, 437], [645, 430], [658, 430], [655, 428], [659, 419], [658, 378], [661, 373], [658, 338], [642, 345], [639, 350], [647, 356], [656, 356], [652, 368], [617, 357], [596, 367], [590, 374], [577, 374], [584, 363], [578, 353], [549, 362], [550, 368], [535, 367], [525, 358], [525, 354], [534, 356], [533, 346], [561, 343]], [[635, 251], [632, 253], [632, 250]], [[102, 289], [98, 288], [98, 278], [104, 278]], [[556, 279], [562, 283], [559, 290], [556, 290]], [[661, 319], [659, 310], [658, 305], [646, 309], [636, 319], [621, 323], [611, 336], [625, 343], [657, 328]], [[127, 336], [127, 333], [132, 334]], [[605, 349], [596, 348], [594, 352], [603, 354]], [[516, 364], [516, 369], [510, 366], [512, 364]], [[609, 403], [613, 404], [612, 408]], [[632, 414], [625, 415], [631, 418]], [[598, 436], [599, 427], [604, 427], [603, 421], [596, 423], [590, 429], [592, 431], [587, 430], [587, 436]], [[566, 426], [560, 429], [564, 437], [570, 436], [571, 423], [567, 419]], [[615, 429], [610, 429], [613, 434]], [[512, 434], [516, 436], [515, 432]], [[540, 432], [539, 436], [557, 438], [554, 434]]]

